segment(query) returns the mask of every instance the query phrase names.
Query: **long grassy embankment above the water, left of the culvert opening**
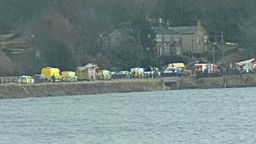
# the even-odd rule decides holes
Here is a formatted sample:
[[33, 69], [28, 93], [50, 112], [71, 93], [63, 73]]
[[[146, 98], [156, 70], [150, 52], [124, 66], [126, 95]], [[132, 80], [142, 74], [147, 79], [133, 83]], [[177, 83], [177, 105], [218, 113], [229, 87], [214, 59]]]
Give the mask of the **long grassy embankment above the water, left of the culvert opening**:
[[164, 90], [159, 80], [132, 79], [48, 84], [2, 84], [0, 99]]

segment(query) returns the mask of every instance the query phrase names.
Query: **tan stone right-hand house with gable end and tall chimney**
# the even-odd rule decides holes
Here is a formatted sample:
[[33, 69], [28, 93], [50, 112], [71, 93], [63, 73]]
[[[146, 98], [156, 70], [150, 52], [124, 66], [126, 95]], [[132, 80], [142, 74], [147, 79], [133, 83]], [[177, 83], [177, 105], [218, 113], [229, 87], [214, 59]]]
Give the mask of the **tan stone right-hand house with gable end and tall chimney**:
[[197, 26], [169, 27], [182, 34], [182, 52], [204, 53], [209, 50], [210, 41], [208, 32], [204, 29], [202, 21], [197, 21]]

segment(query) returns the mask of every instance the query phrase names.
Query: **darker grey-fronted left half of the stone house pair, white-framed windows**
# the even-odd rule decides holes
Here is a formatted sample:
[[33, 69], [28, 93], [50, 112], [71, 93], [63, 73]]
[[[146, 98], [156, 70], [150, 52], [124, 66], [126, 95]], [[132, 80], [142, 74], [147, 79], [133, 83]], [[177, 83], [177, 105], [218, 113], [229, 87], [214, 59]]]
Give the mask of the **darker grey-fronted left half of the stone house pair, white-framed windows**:
[[159, 19], [159, 26], [153, 27], [156, 34], [156, 49], [159, 56], [170, 54], [181, 54], [181, 34], [177, 31], [161, 26], [163, 22]]

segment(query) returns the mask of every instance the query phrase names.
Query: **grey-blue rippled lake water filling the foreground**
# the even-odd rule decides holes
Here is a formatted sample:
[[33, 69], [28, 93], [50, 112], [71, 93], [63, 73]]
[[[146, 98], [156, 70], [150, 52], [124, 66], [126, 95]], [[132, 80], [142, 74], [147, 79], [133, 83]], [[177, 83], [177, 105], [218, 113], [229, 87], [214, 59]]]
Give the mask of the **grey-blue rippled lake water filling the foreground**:
[[256, 143], [256, 88], [0, 100], [1, 144]]

